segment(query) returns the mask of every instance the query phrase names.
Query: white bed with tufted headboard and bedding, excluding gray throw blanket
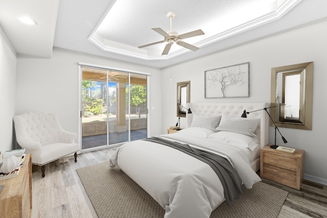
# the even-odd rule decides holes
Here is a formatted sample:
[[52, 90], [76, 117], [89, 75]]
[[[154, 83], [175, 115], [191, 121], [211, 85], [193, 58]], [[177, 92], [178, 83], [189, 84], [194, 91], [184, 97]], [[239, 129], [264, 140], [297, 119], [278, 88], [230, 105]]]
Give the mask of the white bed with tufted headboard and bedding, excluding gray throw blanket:
[[[189, 103], [186, 107], [192, 111], [186, 114], [186, 128], [159, 138], [187, 143], [226, 157], [246, 188], [260, 181], [255, 172], [260, 167], [260, 148], [268, 143], [268, 117], [264, 110], [250, 113], [248, 118], [240, 117], [244, 110], [259, 110], [268, 104]], [[220, 117], [220, 131], [212, 127], [216, 122], [214, 117]], [[208, 127], [207, 120], [215, 122], [210, 121]], [[242, 129], [253, 122], [258, 122], [255, 131], [248, 133], [251, 128]], [[252, 136], [253, 133], [258, 137]], [[247, 140], [251, 141], [245, 143]], [[258, 146], [252, 140], [258, 140]], [[111, 156], [109, 165], [119, 166], [146, 190], [165, 209], [166, 218], [209, 217], [225, 200], [223, 185], [208, 164], [158, 143], [145, 140], [125, 143]]]

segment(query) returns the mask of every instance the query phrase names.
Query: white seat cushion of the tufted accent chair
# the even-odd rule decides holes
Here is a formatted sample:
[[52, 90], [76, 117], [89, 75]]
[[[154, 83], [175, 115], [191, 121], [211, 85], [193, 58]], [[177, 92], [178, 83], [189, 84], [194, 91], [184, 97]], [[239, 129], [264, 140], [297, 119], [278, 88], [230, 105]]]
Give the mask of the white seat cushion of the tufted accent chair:
[[79, 150], [80, 146], [77, 143], [47, 144], [46, 146], [42, 146], [42, 153], [37, 157], [36, 162], [33, 161], [32, 155], [32, 163], [44, 165]]

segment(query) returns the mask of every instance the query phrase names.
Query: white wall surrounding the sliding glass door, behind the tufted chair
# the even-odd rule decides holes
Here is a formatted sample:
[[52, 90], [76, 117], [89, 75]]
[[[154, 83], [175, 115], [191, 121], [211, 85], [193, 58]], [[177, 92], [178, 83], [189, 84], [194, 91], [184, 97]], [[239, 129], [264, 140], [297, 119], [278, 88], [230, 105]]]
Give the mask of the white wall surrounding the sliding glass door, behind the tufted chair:
[[54, 48], [51, 59], [18, 56], [16, 114], [55, 112], [63, 129], [78, 133], [79, 62], [150, 73], [150, 106], [154, 107], [150, 110], [150, 135], [161, 134], [157, 125], [161, 101], [156, 98], [161, 91], [159, 69], [59, 48]]

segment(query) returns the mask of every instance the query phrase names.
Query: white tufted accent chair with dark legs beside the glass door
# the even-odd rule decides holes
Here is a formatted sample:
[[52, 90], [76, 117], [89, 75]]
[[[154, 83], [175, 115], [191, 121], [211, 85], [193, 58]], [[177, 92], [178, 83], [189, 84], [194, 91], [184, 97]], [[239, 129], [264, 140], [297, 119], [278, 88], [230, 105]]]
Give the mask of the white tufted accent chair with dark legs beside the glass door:
[[65, 131], [59, 124], [57, 114], [29, 112], [13, 117], [16, 140], [27, 154], [32, 155], [32, 164], [41, 166], [69, 154], [74, 154], [77, 161], [79, 144], [75, 143], [76, 133]]

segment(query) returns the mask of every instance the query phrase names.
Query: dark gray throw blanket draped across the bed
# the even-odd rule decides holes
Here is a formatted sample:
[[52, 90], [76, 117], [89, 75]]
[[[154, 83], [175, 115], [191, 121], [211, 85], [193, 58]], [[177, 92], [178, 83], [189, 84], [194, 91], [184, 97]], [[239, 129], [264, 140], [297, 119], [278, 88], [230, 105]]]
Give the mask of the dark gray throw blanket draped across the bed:
[[236, 169], [230, 164], [230, 162], [226, 158], [223, 158], [219, 155], [215, 155], [211, 152], [192, 148], [189, 146], [189, 144], [182, 144], [176, 141], [170, 141], [160, 137], [150, 137], [143, 140], [160, 143], [165, 146], [177, 149], [211, 166], [217, 174], [218, 178], [220, 179], [221, 184], [223, 185], [224, 196], [228, 206], [230, 206], [234, 200], [241, 197], [244, 191], [242, 180]]

